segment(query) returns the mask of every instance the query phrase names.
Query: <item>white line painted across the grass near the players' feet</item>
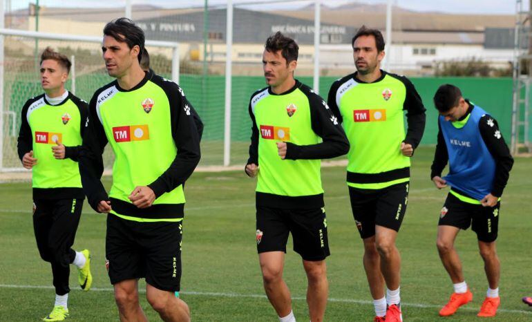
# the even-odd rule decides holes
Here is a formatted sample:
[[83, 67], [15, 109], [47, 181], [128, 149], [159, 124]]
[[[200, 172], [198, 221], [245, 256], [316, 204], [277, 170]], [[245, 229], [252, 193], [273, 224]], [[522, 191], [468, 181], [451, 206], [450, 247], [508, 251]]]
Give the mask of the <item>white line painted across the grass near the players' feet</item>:
[[[43, 285], [10, 285], [10, 284], [0, 284], [0, 288], [15, 288], [15, 289], [21, 289], [21, 290], [38, 290], [38, 289], [44, 289], [44, 290], [54, 290], [53, 286], [43, 286]], [[75, 290], [82, 292], [81, 290]], [[113, 292], [113, 288], [111, 287], [92, 287], [91, 291], [93, 292]], [[144, 294], [146, 293], [145, 290], [139, 290], [139, 293]], [[194, 291], [183, 291], [180, 292], [180, 294], [183, 295], [191, 295], [191, 296], [214, 296], [214, 297], [234, 297], [234, 298], [253, 298], [253, 299], [266, 299], [266, 296], [263, 294], [239, 294], [239, 293], [225, 293], [225, 292], [194, 292]], [[296, 301], [306, 301], [305, 297], [301, 296], [295, 296], [292, 297], [293, 300]], [[357, 304], [363, 304], [363, 305], [373, 305], [372, 301], [368, 300], [356, 300], [356, 299], [334, 299], [330, 298], [327, 301], [329, 302], [336, 302], [336, 303], [357, 303]], [[401, 306], [403, 307], [420, 307], [420, 308], [440, 308], [441, 305], [435, 305], [435, 304], [424, 304], [424, 303], [401, 303]], [[461, 307], [460, 310], [467, 310], [467, 311], [477, 311], [477, 307]], [[497, 312], [504, 312], [504, 313], [515, 313], [515, 314], [532, 314], [532, 311], [525, 311], [525, 310], [506, 310], [506, 309], [499, 309]]]

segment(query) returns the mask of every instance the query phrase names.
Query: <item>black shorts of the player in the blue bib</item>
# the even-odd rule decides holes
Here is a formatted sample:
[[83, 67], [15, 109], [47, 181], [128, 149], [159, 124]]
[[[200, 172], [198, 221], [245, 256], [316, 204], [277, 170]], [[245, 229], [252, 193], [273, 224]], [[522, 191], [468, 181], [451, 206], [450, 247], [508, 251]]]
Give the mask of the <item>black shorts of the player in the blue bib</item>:
[[495, 207], [473, 205], [449, 193], [444, 207], [441, 208], [438, 225], [453, 226], [464, 230], [471, 226], [471, 229], [477, 233], [478, 240], [491, 243], [497, 239], [500, 207], [500, 202], [497, 202]]

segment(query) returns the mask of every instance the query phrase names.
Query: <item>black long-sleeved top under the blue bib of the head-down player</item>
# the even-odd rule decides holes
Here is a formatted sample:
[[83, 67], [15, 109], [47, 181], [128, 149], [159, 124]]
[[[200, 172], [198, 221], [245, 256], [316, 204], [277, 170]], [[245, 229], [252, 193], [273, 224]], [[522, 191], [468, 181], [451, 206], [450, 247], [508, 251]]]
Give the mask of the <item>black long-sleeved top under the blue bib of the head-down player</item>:
[[[473, 108], [475, 108], [475, 106], [470, 102], [468, 102], [468, 104], [468, 110], [466, 114], [460, 118], [460, 121], [465, 120], [471, 111], [473, 111]], [[497, 120], [495, 120], [491, 115], [486, 114], [480, 118], [478, 128], [480, 135], [482, 136], [482, 140], [484, 140], [484, 144], [486, 144], [486, 148], [495, 159], [495, 179], [493, 180], [493, 189], [491, 190], [491, 194], [495, 197], [500, 197], [502, 196], [502, 191], [508, 182], [510, 170], [513, 166], [513, 158], [510, 154], [508, 146], [506, 145], [506, 142], [504, 142], [504, 138], [502, 137]], [[441, 128], [438, 122], [438, 140], [436, 144], [436, 151], [434, 153], [433, 164], [430, 168], [431, 180], [435, 176], [441, 176], [441, 171], [444, 171], [448, 160], [449, 155], [446, 142], [444, 140], [443, 133], [441, 133]]]

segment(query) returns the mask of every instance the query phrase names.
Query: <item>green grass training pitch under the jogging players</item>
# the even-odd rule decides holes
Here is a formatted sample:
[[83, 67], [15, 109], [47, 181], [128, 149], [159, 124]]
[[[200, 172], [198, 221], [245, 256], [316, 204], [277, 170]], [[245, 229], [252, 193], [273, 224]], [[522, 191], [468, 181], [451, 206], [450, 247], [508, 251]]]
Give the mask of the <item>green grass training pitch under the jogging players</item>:
[[[406, 321], [480, 321], [475, 315], [487, 282], [475, 234], [463, 231], [457, 249], [464, 264], [473, 303], [455, 316], [437, 312], [452, 285], [435, 247], [439, 210], [446, 192], [428, 179], [433, 148], [417, 151], [412, 160], [408, 209], [397, 243], [402, 256], [401, 298]], [[502, 263], [499, 314], [489, 321], [532, 321], [532, 308], [521, 297], [532, 294], [532, 159], [515, 160], [502, 199], [497, 240]], [[373, 307], [361, 264], [362, 243], [354, 226], [345, 169], [322, 170], [325, 209], [332, 256], [327, 258], [330, 301], [325, 321], [372, 321]], [[106, 180], [106, 185], [110, 180]], [[193, 321], [277, 321], [263, 295], [255, 244], [254, 180], [243, 171], [195, 173], [187, 182], [182, 247], [182, 299]], [[41, 261], [32, 230], [29, 182], [0, 184], [0, 321], [38, 321], [53, 307], [50, 265]], [[93, 254], [93, 290], [82, 292], [75, 270], [70, 276], [69, 321], [117, 321], [117, 309], [104, 267], [105, 216], [87, 205], [79, 225], [76, 249]], [[287, 247], [285, 280], [292, 291], [298, 321], [309, 321], [306, 280], [301, 259]], [[158, 321], [141, 296], [141, 305]]]

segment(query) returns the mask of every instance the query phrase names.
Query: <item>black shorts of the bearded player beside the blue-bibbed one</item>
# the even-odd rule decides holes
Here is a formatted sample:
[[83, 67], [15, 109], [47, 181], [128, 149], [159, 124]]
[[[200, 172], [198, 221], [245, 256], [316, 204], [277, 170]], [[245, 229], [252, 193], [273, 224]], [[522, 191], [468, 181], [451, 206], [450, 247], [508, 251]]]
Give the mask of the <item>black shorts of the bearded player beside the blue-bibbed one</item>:
[[361, 238], [375, 236], [375, 225], [399, 231], [408, 203], [408, 182], [383, 189], [349, 187], [354, 222]]

